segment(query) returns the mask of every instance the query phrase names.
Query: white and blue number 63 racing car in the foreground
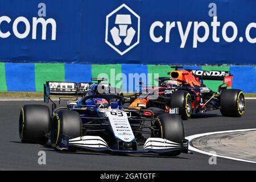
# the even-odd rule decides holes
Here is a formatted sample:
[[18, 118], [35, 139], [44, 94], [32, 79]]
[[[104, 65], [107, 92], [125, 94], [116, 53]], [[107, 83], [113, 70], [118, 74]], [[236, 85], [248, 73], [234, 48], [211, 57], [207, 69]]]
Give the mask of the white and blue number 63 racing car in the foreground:
[[[123, 97], [100, 92], [111, 89], [109, 84], [101, 84], [104, 79], [93, 80], [98, 82], [46, 82], [44, 102], [51, 101], [52, 110], [46, 105], [24, 105], [19, 117], [20, 140], [43, 144], [50, 140], [61, 151], [188, 153], [179, 115], [123, 107]], [[51, 95], [63, 95], [59, 100], [67, 101], [67, 106], [56, 107]]]

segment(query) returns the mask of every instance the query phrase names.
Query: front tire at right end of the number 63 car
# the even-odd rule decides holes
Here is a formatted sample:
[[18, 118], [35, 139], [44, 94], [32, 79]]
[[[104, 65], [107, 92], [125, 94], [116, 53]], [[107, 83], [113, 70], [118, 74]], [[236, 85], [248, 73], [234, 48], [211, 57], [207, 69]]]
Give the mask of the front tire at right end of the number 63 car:
[[[160, 114], [155, 121], [155, 126], [158, 127], [159, 138], [167, 139], [176, 143], [183, 143], [185, 138], [185, 130], [183, 121], [178, 114]], [[168, 156], [180, 155], [181, 151], [175, 151], [168, 154]]]

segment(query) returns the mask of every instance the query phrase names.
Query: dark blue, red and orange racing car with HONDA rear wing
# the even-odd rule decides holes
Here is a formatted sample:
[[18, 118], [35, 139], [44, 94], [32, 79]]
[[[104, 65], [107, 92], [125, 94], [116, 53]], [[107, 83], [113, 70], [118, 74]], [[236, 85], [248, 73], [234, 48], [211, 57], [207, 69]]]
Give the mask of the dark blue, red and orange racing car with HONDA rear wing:
[[[171, 68], [175, 68], [175, 71], [168, 73], [170, 77], [156, 78], [159, 86], [143, 88], [139, 94], [135, 94], [130, 106], [143, 103], [149, 110], [178, 113], [182, 119], [214, 109], [220, 109], [221, 114], [227, 117], [243, 115], [245, 97], [242, 90], [227, 89], [232, 86], [233, 76], [230, 72]], [[217, 92], [213, 92], [204, 85], [204, 80], [222, 80], [223, 84], [218, 86]]]

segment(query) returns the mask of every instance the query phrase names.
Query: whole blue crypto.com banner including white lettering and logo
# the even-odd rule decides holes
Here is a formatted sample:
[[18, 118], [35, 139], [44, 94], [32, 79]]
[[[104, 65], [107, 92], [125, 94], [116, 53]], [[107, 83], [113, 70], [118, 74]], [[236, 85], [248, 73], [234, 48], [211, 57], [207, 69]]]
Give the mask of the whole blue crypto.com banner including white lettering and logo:
[[0, 1], [0, 60], [256, 64], [255, 0]]

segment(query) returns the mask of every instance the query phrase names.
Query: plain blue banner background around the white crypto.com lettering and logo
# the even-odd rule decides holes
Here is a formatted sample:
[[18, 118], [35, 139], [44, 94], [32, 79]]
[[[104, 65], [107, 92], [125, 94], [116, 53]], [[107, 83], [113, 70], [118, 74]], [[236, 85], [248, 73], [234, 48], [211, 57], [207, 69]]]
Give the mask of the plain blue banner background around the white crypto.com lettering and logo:
[[[32, 39], [32, 17], [38, 16], [38, 4], [46, 3], [46, 17], [57, 24], [56, 40], [51, 40], [51, 27], [47, 27], [47, 39], [42, 40], [42, 28], [38, 26], [37, 39]], [[217, 17], [221, 22], [217, 35], [220, 43], [212, 40], [212, 17], [208, 5], [217, 5]], [[119, 55], [105, 43], [106, 15], [125, 3], [141, 18], [140, 43], [124, 55]], [[0, 38], [0, 61], [61, 62], [61, 63], [135, 63], [135, 64], [256, 64], [256, 44], [247, 42], [245, 28], [256, 22], [256, 1], [254, 0], [12, 0], [0, 1], [0, 16], [9, 16], [10, 24], [1, 23], [1, 31], [10, 31], [9, 38]], [[122, 10], [119, 13], [127, 13]], [[13, 34], [13, 22], [18, 16], [26, 17], [31, 25], [30, 34], [18, 39]], [[134, 16], [132, 16], [132, 20]], [[210, 27], [210, 36], [204, 43], [192, 48], [193, 25], [184, 48], [180, 48], [180, 36], [176, 27], [171, 31], [170, 43], [155, 43], [150, 39], [153, 22], [180, 21], [183, 30], [188, 21], [204, 21]], [[227, 43], [222, 38], [224, 23], [233, 21], [238, 27], [237, 39]], [[137, 30], [134, 21], [132, 27]], [[114, 27], [113, 17], [109, 27]], [[18, 26], [24, 31], [24, 24]], [[163, 28], [156, 28], [155, 35], [163, 35]], [[204, 34], [203, 28], [199, 35]], [[233, 34], [232, 28], [227, 30]], [[243, 42], [238, 38], [243, 37]], [[251, 38], [256, 37], [256, 28], [251, 28]], [[113, 42], [111, 38], [110, 42]]]

